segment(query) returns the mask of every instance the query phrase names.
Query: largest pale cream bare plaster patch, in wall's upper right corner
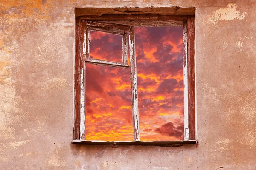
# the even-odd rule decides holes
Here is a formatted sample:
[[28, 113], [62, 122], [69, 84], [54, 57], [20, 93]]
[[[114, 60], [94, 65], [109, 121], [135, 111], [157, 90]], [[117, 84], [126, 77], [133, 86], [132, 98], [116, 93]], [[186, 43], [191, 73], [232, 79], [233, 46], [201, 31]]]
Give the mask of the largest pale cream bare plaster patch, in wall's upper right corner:
[[233, 3], [228, 3], [227, 7], [225, 8], [218, 8], [213, 15], [207, 16], [207, 23], [211, 23], [212, 26], [216, 27], [218, 20], [244, 20], [245, 15], [247, 15], [247, 12], [243, 12], [241, 14], [241, 11], [237, 11], [236, 8], [236, 4]]

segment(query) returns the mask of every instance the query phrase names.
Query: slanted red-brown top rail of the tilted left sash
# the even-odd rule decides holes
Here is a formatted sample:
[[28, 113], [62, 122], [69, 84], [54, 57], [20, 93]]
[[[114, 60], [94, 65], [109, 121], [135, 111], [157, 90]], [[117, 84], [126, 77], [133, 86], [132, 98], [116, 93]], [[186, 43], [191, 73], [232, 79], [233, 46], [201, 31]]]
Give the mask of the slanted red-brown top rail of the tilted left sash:
[[118, 29], [122, 31], [128, 31], [129, 29], [129, 26], [122, 25], [122, 24], [103, 23], [103, 22], [96, 22], [96, 21], [87, 21], [87, 26], [102, 27], [102, 28], [108, 28], [108, 29]]

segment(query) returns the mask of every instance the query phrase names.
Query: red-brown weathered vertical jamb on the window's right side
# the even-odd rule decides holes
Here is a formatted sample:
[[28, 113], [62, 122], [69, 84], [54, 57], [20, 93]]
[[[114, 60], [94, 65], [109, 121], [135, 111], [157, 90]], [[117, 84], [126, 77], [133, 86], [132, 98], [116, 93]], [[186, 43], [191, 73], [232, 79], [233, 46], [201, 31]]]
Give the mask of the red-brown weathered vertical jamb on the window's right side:
[[189, 105], [189, 140], [195, 140], [195, 24], [194, 16], [188, 16], [188, 105]]

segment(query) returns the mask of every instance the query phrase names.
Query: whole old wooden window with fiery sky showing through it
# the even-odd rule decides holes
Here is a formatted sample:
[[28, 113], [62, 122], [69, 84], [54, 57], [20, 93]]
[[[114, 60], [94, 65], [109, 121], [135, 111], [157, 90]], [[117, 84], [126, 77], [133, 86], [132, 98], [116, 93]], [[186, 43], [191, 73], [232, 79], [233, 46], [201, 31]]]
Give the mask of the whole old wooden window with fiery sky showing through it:
[[76, 17], [73, 142], [194, 143], [194, 17], [115, 16]]

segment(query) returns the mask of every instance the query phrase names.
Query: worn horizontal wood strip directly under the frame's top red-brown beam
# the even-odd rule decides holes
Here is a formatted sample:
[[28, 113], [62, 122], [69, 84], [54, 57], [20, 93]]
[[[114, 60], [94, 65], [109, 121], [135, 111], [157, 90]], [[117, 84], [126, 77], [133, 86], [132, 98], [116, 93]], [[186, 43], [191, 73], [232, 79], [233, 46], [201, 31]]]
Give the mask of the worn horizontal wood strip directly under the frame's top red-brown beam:
[[151, 20], [147, 20], [147, 21], [144, 21], [144, 20], [112, 21], [112, 20], [102, 20], [101, 22], [135, 26], [135, 27], [166, 27], [166, 26], [183, 26], [184, 21], [172, 21], [172, 20], [167, 20], [167, 21], [151, 21]]

